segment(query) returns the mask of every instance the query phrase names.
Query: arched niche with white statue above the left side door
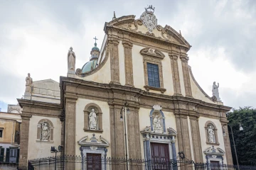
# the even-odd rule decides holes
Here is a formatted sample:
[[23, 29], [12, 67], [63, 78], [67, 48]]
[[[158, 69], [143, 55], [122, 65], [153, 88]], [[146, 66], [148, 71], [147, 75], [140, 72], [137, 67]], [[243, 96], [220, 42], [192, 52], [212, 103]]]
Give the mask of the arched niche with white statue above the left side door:
[[85, 132], [103, 132], [102, 111], [100, 106], [89, 103], [84, 109], [84, 130]]

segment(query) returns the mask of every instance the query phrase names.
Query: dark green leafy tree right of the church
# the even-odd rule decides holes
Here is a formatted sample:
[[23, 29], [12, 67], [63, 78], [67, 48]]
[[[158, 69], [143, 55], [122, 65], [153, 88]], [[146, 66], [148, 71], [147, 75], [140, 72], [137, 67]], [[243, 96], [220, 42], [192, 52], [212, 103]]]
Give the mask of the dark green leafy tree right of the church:
[[[256, 166], [256, 109], [252, 107], [233, 109], [227, 116], [228, 124], [233, 128], [239, 164]], [[242, 131], [239, 130], [240, 124]], [[237, 164], [230, 127], [228, 127], [228, 133], [233, 163]]]

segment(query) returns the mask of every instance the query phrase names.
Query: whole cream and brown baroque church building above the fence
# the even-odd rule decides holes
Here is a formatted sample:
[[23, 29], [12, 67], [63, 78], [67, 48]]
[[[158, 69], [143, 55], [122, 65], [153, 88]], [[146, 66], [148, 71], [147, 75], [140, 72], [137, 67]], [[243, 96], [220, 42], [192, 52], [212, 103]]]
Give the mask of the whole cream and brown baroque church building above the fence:
[[125, 157], [127, 147], [129, 159], [176, 159], [182, 151], [194, 162], [233, 164], [223, 136], [230, 107], [217, 85], [210, 97], [196, 82], [188, 65], [191, 45], [181, 33], [157, 25], [152, 6], [137, 19], [114, 16], [104, 31], [101, 49], [95, 42], [81, 69], [70, 47], [68, 75], [59, 84], [26, 78], [18, 99], [19, 165], [53, 156], [50, 147], [58, 145], [63, 154], [85, 157]]

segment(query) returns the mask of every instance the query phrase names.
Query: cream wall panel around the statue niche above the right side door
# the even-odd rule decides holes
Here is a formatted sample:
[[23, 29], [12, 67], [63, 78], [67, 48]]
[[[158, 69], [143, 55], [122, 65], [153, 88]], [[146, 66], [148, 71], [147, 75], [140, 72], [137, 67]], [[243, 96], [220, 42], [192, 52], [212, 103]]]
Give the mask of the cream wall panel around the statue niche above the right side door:
[[[218, 142], [220, 143], [219, 146], [214, 146], [215, 149], [216, 148], [220, 148], [223, 149], [223, 151], [225, 151], [225, 145], [224, 145], [224, 139], [223, 139], [223, 131], [222, 131], [222, 126], [220, 123], [220, 120], [218, 119], [213, 119], [213, 118], [205, 118], [205, 117], [200, 117], [198, 118], [198, 123], [199, 123], [199, 130], [200, 130], [200, 136], [201, 136], [201, 145], [202, 145], [202, 152], [204, 152], [206, 149], [208, 149], [209, 147], [211, 147], [212, 145], [207, 145], [206, 144], [206, 130], [205, 130], [205, 125], [206, 122], [210, 120], [212, 121], [216, 128], [218, 129]], [[206, 154], [203, 153], [203, 162], [206, 162]], [[227, 159], [225, 157], [225, 155], [223, 156], [223, 163], [227, 164]]]

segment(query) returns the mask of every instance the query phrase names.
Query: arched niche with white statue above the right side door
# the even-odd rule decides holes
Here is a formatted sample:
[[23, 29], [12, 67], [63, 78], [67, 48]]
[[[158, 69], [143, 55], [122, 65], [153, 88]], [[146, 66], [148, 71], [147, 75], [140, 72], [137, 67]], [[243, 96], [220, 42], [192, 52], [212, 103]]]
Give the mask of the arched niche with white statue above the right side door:
[[208, 145], [219, 145], [218, 131], [216, 125], [212, 121], [207, 121], [205, 125], [206, 143]]

